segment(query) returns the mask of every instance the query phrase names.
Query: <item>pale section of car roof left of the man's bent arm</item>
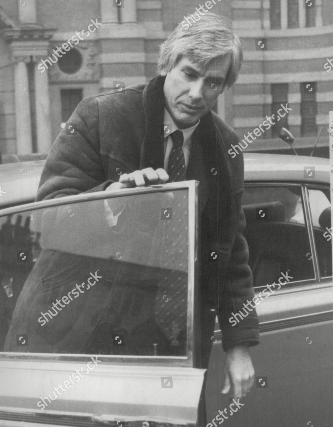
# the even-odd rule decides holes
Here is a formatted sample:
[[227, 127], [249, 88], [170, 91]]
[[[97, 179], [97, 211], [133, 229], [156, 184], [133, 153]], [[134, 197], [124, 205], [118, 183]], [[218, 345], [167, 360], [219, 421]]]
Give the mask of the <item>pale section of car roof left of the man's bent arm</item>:
[[32, 202], [36, 195], [45, 160], [0, 165], [0, 208]]

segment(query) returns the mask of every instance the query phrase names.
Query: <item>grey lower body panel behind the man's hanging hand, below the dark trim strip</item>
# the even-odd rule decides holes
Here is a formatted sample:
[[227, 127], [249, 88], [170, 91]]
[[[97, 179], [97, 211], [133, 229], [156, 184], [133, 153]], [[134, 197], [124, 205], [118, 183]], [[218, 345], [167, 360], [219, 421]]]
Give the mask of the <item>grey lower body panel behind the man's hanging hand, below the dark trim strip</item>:
[[[260, 345], [250, 348], [255, 370], [253, 388], [242, 399], [244, 407], [226, 420], [226, 425], [330, 427], [332, 326], [330, 321], [261, 333]], [[216, 342], [207, 372], [207, 422], [228, 404], [228, 398], [221, 395], [224, 360], [221, 342]], [[265, 382], [263, 387], [260, 377], [261, 384]]]

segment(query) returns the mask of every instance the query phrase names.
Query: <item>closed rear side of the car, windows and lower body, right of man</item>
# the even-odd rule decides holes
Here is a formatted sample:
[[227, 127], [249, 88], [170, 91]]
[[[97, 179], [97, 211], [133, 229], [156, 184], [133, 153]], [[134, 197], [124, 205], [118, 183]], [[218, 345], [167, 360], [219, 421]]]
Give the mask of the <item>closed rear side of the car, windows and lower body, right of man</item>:
[[[333, 425], [329, 193], [328, 185], [319, 184], [245, 187], [245, 237], [255, 287], [251, 307], [259, 316], [261, 343], [250, 349], [253, 389], [237, 413], [228, 411], [224, 421], [230, 426]], [[235, 324], [242, 322], [236, 314], [230, 318]], [[206, 404], [207, 422], [215, 425], [218, 410], [228, 409], [229, 402], [220, 393], [225, 357], [220, 331], [212, 339]]]

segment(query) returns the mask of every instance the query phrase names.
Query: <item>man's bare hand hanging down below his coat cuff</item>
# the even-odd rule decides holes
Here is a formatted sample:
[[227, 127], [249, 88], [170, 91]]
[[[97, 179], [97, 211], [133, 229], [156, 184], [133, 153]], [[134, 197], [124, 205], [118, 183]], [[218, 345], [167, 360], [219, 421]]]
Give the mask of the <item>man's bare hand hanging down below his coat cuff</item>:
[[222, 394], [230, 391], [232, 398], [241, 398], [250, 391], [254, 382], [254, 369], [248, 345], [235, 345], [227, 351], [224, 365]]

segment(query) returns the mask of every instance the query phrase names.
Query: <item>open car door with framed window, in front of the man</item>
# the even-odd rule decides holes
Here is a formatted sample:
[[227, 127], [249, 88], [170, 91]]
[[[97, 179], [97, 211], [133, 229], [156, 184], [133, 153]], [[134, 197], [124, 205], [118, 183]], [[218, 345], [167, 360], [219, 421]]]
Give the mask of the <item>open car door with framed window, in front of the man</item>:
[[0, 234], [1, 426], [196, 424], [196, 181], [6, 209]]

